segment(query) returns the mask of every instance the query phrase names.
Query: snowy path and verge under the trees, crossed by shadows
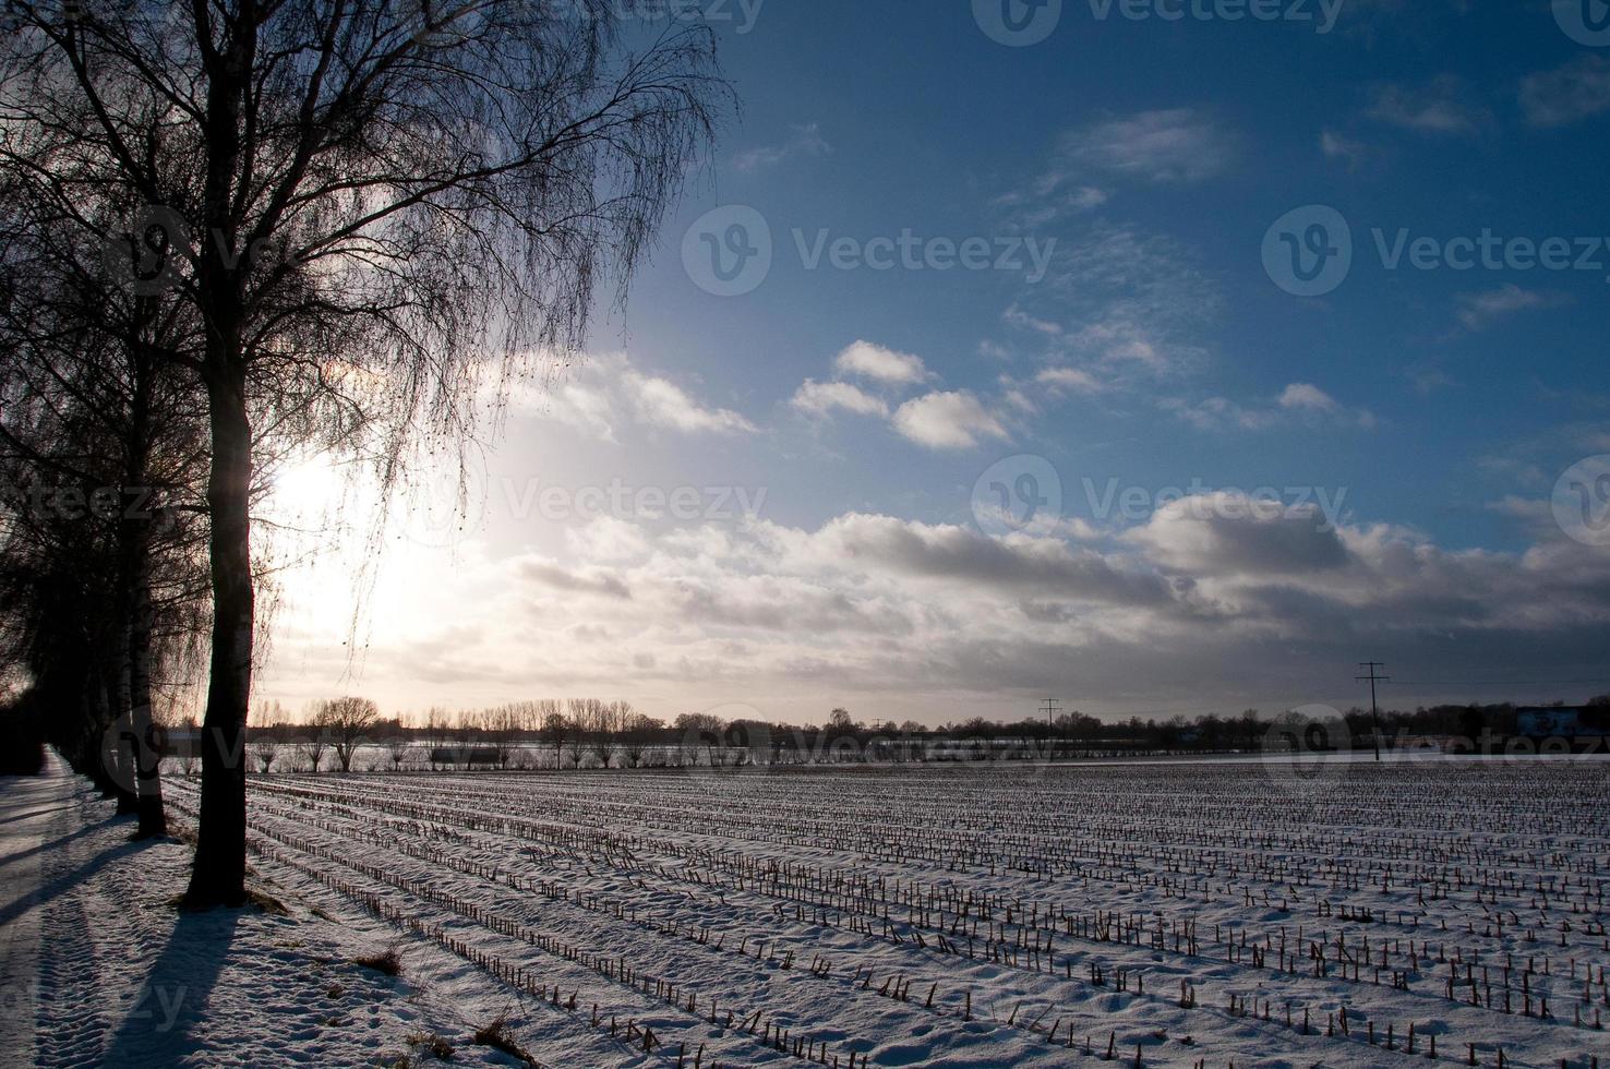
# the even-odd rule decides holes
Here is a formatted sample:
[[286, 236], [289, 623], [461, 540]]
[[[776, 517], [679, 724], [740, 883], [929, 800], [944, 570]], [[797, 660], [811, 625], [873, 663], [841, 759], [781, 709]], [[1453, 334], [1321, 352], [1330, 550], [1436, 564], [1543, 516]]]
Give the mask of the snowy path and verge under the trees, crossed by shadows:
[[425, 982], [354, 963], [393, 937], [362, 914], [272, 884], [283, 913], [182, 913], [190, 848], [132, 829], [55, 755], [0, 779], [0, 1066], [359, 1066], [473, 1032]]

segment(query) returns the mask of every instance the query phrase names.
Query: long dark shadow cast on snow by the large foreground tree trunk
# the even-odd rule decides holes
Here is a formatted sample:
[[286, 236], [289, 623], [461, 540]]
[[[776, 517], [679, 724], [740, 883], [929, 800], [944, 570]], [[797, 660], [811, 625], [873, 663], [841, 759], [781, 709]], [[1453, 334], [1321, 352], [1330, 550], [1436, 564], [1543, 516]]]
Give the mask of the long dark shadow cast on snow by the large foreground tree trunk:
[[240, 910], [180, 911], [101, 1064], [172, 1066], [200, 1050], [192, 1032], [208, 1014], [240, 914]]

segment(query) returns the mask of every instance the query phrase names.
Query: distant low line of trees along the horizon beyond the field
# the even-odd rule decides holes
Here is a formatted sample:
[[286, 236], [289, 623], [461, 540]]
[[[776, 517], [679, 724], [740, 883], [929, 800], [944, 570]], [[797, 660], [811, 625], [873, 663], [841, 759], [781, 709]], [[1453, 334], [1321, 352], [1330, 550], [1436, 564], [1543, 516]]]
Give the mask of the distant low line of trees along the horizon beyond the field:
[[[1610, 707], [1610, 695], [1591, 704]], [[1257, 710], [1236, 716], [1209, 713], [1187, 720], [1101, 721], [1066, 713], [1053, 721], [1016, 723], [972, 718], [942, 726], [916, 721], [858, 721], [836, 708], [819, 726], [723, 720], [683, 713], [671, 723], [647, 716], [630, 702], [543, 699], [449, 713], [431, 708], [417, 716], [383, 718], [361, 697], [316, 702], [299, 720], [279, 705], [259, 705], [248, 753], [254, 768], [353, 771], [364, 745], [362, 771], [382, 768], [642, 768], [723, 762], [911, 762], [953, 757], [1069, 758], [1119, 753], [1262, 752], [1298, 744], [1302, 749], [1368, 747], [1377, 720], [1352, 708], [1320, 721], [1291, 712], [1264, 718]], [[1314, 731], [1317, 723], [1319, 731]], [[1515, 707], [1439, 705], [1386, 710], [1380, 728], [1388, 745], [1409, 739], [1463, 737], [1502, 749], [1517, 733]], [[193, 733], [182, 731], [185, 737]], [[188, 750], [179, 749], [182, 757]], [[325, 760], [333, 755], [333, 765]]]

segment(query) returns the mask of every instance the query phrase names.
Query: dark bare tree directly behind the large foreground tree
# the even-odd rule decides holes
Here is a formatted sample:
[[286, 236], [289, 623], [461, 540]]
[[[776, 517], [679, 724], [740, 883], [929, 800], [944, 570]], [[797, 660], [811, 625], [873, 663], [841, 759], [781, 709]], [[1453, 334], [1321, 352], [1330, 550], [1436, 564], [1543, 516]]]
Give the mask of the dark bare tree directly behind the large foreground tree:
[[[32, 190], [0, 167], [0, 457], [34, 491], [71, 489], [82, 504], [58, 499], [39, 515], [35, 493], [32, 510], [10, 517], [6, 575], [32, 576], [0, 602], [8, 617], [37, 609], [53, 568], [42, 554], [71, 557], [79, 586], [103, 570], [92, 581], [105, 583], [93, 602], [106, 634], [79, 658], [114, 679], [101, 720], [118, 721], [137, 836], [150, 837], [166, 831], [153, 689], [188, 670], [204, 628], [204, 543], [192, 507], [206, 470], [204, 409], [167, 359], [193, 346], [196, 320], [116, 285], [105, 258], [84, 248], [79, 222]], [[68, 539], [52, 543], [53, 533]], [[18, 633], [14, 620], [8, 629]], [[43, 668], [35, 675], [48, 686]], [[47, 700], [68, 713], [74, 704], [61, 697]]]

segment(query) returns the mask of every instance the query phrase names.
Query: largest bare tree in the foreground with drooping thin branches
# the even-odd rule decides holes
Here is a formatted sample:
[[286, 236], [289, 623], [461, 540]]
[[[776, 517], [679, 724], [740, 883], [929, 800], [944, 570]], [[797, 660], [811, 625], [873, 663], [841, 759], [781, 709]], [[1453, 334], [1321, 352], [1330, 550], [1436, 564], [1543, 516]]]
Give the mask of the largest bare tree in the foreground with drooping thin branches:
[[97, 221], [126, 213], [124, 246], [155, 253], [138, 282], [171, 283], [203, 325], [179, 357], [211, 438], [192, 903], [245, 898], [253, 417], [357, 428], [394, 486], [411, 443], [460, 441], [473, 399], [507, 385], [493, 361], [580, 348], [596, 280], [625, 287], [726, 109], [707, 29], [633, 53], [612, 5], [572, 6], [8, 5], [0, 172], [87, 238], [116, 240]]

